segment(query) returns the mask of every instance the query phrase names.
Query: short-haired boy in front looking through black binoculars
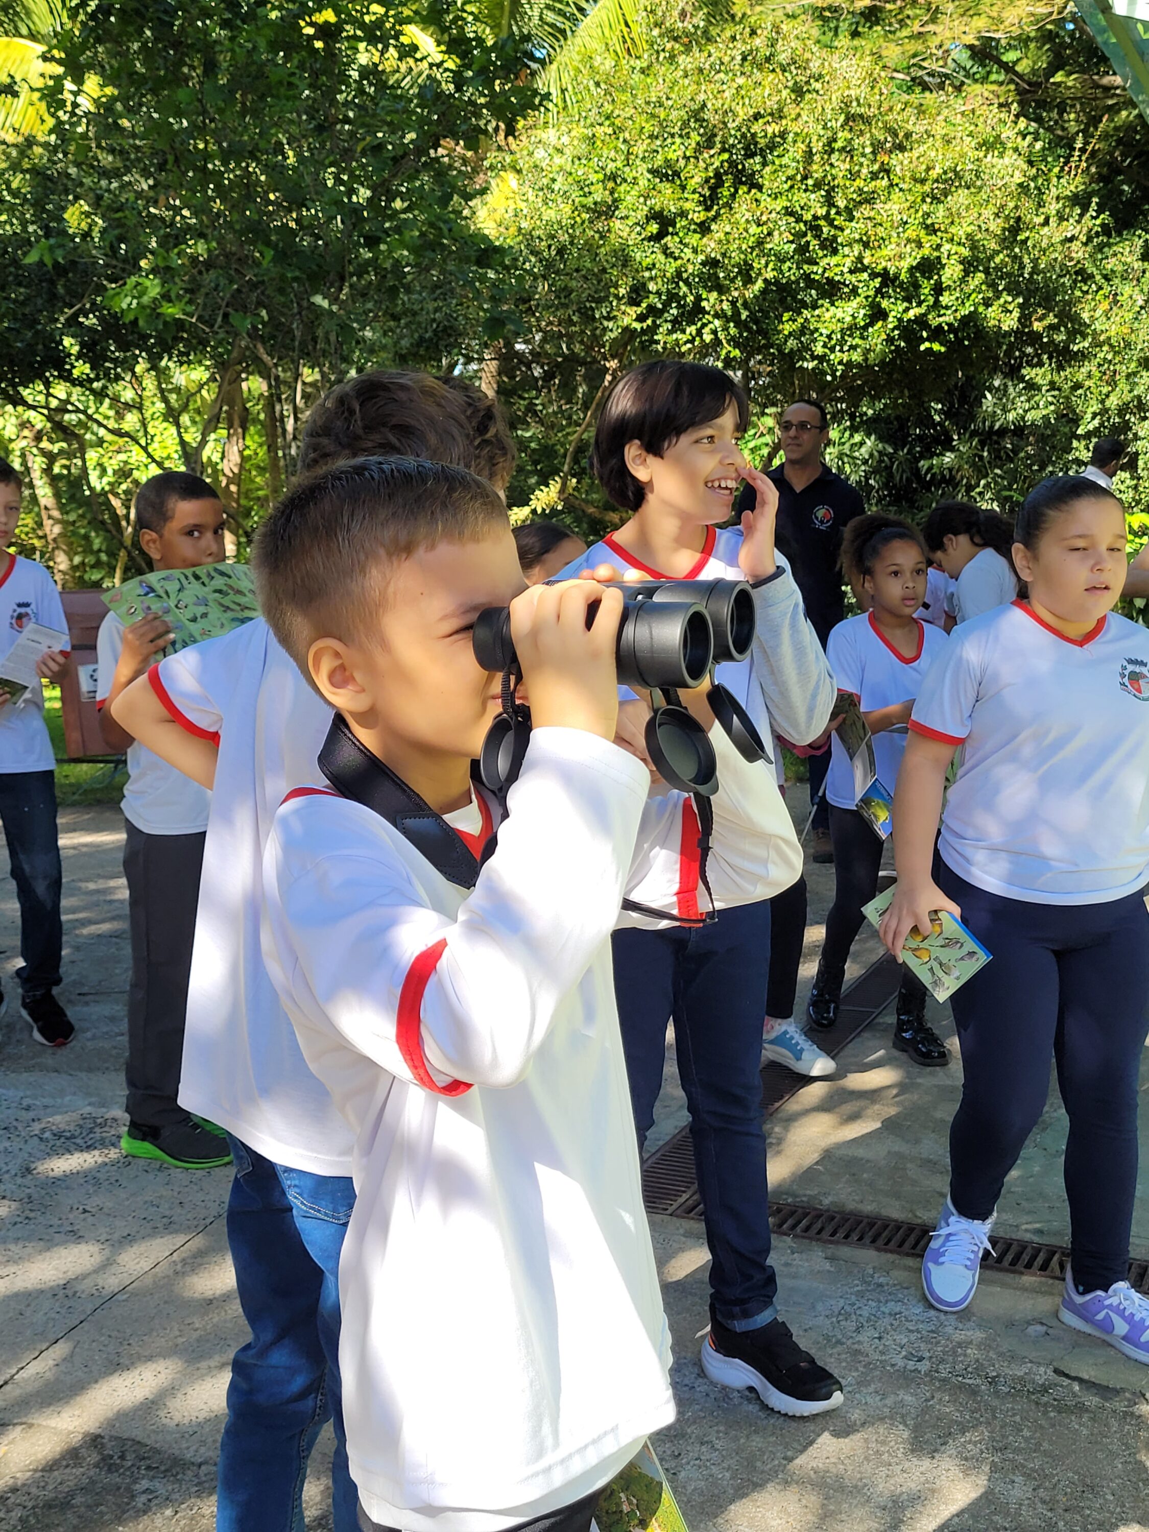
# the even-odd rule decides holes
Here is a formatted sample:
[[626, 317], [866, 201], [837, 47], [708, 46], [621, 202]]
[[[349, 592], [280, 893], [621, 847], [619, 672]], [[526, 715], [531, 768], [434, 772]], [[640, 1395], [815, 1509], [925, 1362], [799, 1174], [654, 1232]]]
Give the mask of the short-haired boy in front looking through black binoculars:
[[[302, 484], [256, 573], [343, 752], [323, 757], [340, 792], [300, 784], [276, 817], [265, 953], [355, 1129], [340, 1296], [363, 1526], [585, 1532], [674, 1413], [610, 933], [625, 895], [676, 922], [699, 840], [691, 801], [648, 798], [611, 743], [622, 597], [524, 593], [490, 487], [411, 460]], [[472, 631], [509, 602], [535, 728], [504, 810], [472, 781], [501, 714]], [[711, 738], [714, 898], [769, 896], [789, 820], [771, 774]]]

